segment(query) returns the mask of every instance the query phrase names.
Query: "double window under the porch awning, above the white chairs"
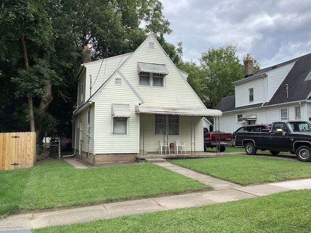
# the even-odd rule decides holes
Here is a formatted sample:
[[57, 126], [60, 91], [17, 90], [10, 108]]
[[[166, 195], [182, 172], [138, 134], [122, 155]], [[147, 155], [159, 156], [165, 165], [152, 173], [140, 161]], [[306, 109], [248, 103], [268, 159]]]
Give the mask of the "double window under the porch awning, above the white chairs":
[[169, 135], [179, 135], [179, 116], [155, 114], [155, 135], [167, 133], [167, 122]]

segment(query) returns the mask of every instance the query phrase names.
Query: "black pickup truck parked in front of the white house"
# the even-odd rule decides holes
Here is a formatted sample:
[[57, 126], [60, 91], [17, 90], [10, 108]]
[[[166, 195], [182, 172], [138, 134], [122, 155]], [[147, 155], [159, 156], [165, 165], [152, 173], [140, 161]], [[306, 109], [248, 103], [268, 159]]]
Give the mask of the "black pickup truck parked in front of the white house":
[[245, 147], [245, 152], [255, 155], [257, 150], [295, 153], [303, 162], [311, 162], [311, 124], [307, 121], [277, 121], [265, 132], [237, 132], [235, 145]]

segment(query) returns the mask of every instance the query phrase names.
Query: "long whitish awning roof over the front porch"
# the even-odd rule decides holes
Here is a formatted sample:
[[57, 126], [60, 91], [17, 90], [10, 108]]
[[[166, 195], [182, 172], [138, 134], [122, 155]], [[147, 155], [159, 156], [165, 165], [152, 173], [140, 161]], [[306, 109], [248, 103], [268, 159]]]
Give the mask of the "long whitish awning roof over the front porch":
[[155, 105], [136, 105], [135, 113], [167, 114], [180, 116], [222, 116], [223, 112], [217, 109], [165, 107]]

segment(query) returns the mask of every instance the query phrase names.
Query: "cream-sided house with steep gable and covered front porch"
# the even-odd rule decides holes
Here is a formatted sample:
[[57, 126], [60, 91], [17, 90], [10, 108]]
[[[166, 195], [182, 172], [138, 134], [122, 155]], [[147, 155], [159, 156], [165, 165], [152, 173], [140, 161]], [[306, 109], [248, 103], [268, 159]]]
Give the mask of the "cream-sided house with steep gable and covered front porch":
[[135, 161], [158, 153], [164, 140], [204, 151], [202, 117], [222, 112], [205, 107], [187, 76], [154, 35], [134, 52], [81, 65], [73, 112], [76, 156], [94, 165]]

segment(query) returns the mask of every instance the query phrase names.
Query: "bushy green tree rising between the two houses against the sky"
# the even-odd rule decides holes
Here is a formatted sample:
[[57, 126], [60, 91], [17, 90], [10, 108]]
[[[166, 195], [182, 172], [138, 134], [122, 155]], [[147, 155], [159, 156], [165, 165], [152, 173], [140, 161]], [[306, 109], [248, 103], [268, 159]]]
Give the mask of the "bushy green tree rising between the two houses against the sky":
[[[227, 96], [235, 94], [232, 84], [244, 78], [244, 66], [236, 55], [237, 45], [227, 45], [202, 52], [199, 64], [179, 62], [178, 67], [189, 73], [188, 82], [207, 108], [215, 108]], [[256, 59], [254, 70], [260, 67]]]

